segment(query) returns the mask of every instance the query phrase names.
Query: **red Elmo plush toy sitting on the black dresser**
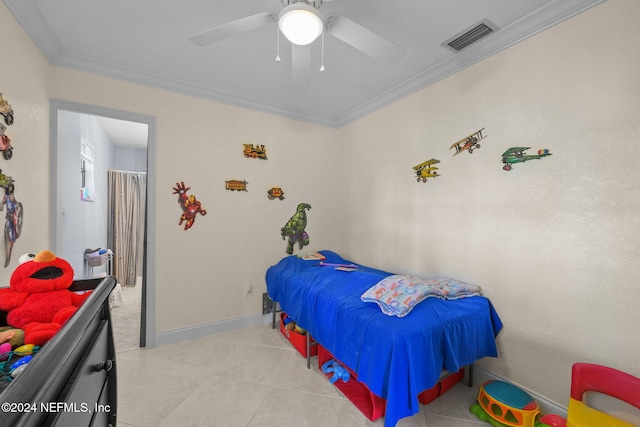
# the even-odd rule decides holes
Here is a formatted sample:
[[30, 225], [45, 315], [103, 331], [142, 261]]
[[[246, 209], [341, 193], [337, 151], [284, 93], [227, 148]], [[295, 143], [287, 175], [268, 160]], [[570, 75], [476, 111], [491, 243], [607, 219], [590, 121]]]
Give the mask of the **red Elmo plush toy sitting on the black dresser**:
[[73, 282], [71, 265], [53, 252], [39, 252], [20, 264], [11, 275], [10, 287], [0, 289], [0, 310], [7, 323], [24, 330], [25, 344], [42, 345], [87, 299], [67, 288]]

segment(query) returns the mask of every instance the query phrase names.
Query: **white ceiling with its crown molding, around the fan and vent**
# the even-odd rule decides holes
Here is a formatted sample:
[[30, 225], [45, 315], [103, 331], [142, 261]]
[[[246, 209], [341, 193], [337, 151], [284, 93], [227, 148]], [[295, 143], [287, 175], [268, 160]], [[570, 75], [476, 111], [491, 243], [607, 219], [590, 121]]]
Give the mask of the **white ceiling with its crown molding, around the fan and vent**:
[[[308, 84], [292, 78], [277, 24], [200, 47], [189, 37], [282, 0], [3, 0], [50, 63], [84, 72], [340, 127], [603, 0], [333, 0], [339, 14], [404, 49], [375, 60], [327, 35], [310, 49]], [[317, 2], [318, 3], [318, 2]], [[482, 20], [498, 30], [454, 52], [442, 43]]]

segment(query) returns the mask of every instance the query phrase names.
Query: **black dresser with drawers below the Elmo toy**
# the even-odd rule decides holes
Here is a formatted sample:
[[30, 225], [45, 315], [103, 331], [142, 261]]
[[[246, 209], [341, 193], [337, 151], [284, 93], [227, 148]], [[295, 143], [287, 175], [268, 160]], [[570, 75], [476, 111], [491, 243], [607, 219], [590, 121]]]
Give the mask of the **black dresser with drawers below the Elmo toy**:
[[0, 392], [0, 426], [116, 426], [113, 277], [73, 282], [93, 293]]

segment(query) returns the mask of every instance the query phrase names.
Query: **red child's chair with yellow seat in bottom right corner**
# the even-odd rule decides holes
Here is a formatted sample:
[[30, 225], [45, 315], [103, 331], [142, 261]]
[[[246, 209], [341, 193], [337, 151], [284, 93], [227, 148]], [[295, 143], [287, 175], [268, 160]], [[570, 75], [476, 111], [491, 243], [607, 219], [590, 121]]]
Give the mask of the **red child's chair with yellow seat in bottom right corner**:
[[640, 378], [592, 363], [576, 363], [571, 370], [567, 427], [635, 427], [583, 401], [586, 392], [603, 393], [640, 409]]

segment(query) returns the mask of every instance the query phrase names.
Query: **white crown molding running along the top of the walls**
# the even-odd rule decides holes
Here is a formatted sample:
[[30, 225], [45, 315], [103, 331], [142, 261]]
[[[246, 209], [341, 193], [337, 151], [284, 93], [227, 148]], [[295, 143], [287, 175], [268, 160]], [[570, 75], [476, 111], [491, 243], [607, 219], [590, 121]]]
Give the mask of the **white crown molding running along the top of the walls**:
[[495, 33], [478, 41], [474, 44], [474, 49], [463, 49], [434, 66], [415, 74], [404, 82], [353, 107], [346, 113], [339, 116], [329, 116], [310, 111], [301, 111], [298, 108], [288, 108], [284, 105], [64, 52], [55, 34], [34, 3], [22, 0], [3, 0], [7, 8], [13, 13], [20, 25], [52, 65], [332, 128], [340, 128], [393, 104], [604, 1], [606, 0], [550, 1], [518, 21], [499, 28]]

